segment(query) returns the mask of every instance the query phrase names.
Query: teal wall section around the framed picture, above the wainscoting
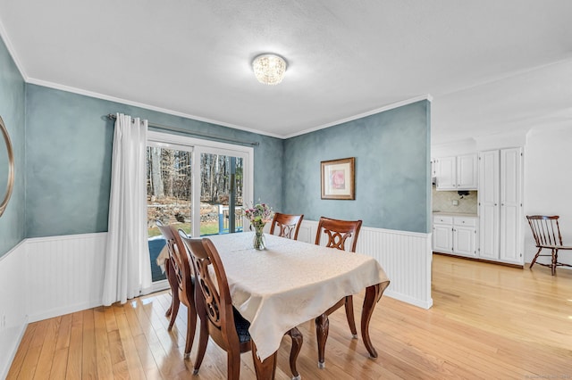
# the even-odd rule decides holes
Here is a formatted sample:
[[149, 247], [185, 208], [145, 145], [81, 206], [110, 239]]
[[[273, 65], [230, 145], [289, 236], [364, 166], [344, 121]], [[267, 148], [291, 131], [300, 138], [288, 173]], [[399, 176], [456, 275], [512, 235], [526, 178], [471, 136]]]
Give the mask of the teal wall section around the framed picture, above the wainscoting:
[[[421, 101], [284, 143], [284, 210], [428, 233], [430, 103]], [[321, 161], [356, 158], [356, 200], [321, 199]]]

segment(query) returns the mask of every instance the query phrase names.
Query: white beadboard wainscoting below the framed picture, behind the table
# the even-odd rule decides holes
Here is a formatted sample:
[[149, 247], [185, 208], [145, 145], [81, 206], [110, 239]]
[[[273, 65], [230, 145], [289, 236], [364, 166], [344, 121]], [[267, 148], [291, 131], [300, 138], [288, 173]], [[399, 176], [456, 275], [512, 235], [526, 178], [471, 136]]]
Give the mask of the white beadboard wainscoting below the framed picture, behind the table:
[[[298, 240], [314, 244], [317, 226], [314, 220], [302, 220]], [[374, 257], [390, 277], [384, 296], [424, 309], [433, 306], [431, 234], [362, 227], [356, 252]]]

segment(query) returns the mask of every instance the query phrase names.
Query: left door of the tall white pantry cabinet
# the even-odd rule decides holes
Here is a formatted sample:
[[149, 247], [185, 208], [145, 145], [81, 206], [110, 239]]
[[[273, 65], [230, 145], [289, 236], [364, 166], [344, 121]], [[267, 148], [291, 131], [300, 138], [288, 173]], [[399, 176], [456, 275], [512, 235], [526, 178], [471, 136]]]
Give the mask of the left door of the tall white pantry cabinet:
[[499, 151], [479, 154], [479, 257], [499, 259]]

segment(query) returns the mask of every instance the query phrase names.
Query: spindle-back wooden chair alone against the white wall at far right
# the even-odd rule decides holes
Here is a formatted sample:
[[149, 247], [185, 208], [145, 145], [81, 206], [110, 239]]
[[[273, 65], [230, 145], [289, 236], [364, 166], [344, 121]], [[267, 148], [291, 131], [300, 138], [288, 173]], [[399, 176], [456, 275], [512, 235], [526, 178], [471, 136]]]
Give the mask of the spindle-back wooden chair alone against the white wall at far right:
[[[554, 276], [556, 267], [572, 267], [572, 265], [564, 264], [558, 260], [559, 251], [572, 251], [572, 246], [562, 244], [562, 235], [560, 235], [558, 222], [559, 216], [527, 215], [526, 219], [528, 219], [528, 225], [533, 232], [536, 248], [538, 248], [538, 252], [534, 255], [529, 268], [533, 268], [534, 263], [550, 267], [552, 276]], [[551, 254], [541, 254], [544, 249], [550, 250]], [[541, 256], [550, 257], [551, 263], [536, 262], [536, 259]]]

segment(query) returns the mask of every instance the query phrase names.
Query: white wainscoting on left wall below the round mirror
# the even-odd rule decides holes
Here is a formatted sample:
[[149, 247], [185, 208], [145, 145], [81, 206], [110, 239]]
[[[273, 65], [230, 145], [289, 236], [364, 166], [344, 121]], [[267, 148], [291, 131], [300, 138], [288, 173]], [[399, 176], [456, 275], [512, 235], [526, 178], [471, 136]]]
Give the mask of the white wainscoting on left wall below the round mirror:
[[25, 242], [0, 257], [0, 378], [8, 370], [28, 326]]

